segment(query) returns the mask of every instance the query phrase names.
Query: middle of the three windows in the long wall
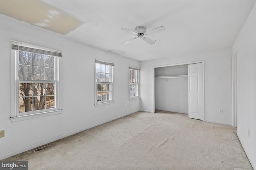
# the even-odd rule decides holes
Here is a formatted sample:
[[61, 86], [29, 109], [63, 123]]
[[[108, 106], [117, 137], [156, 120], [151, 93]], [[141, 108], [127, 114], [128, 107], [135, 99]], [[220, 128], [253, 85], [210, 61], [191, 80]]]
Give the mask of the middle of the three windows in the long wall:
[[113, 68], [114, 63], [95, 61], [96, 97], [95, 104], [113, 100]]

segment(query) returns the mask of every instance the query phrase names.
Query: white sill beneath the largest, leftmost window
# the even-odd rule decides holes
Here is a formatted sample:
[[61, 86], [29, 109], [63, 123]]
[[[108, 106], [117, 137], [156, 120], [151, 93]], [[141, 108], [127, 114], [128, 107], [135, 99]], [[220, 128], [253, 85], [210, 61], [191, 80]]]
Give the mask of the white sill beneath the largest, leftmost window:
[[57, 114], [60, 114], [61, 112], [62, 112], [62, 110], [55, 110], [55, 111], [48, 111], [48, 112], [44, 112], [44, 113], [35, 113], [35, 114], [31, 114], [31, 115], [16, 116], [16, 117], [11, 117], [10, 119], [12, 122], [16, 122], [16, 121], [34, 119], [34, 118], [38, 118], [38, 117], [57, 115]]

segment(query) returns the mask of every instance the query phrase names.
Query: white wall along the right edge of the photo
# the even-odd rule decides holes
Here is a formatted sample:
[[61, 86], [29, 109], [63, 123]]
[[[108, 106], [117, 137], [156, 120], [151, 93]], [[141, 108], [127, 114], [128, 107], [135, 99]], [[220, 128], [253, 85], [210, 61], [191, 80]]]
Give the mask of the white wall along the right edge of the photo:
[[[234, 45], [237, 53], [237, 135], [256, 169], [256, 6]], [[250, 129], [250, 137], [248, 136]]]

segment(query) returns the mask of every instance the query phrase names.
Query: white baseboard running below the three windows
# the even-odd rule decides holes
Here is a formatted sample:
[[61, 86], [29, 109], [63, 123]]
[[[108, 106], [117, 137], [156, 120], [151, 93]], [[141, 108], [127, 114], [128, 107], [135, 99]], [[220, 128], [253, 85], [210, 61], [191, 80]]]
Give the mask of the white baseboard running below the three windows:
[[[140, 110], [137, 110], [137, 111], [140, 111]], [[125, 113], [125, 114], [120, 115], [120, 116], [118, 116], [118, 117], [115, 117], [115, 118], [113, 118], [113, 119], [109, 119], [109, 120], [107, 120], [107, 121], [103, 121], [103, 122], [101, 122], [101, 123], [97, 123], [97, 124], [95, 124], [95, 125], [92, 125], [92, 126], [89, 126], [89, 127], [85, 127], [85, 128], [80, 129], [80, 130], [78, 130], [78, 131], [74, 131], [74, 132], [72, 132], [72, 133], [66, 133], [66, 134], [64, 134], [64, 135], [60, 135], [60, 136], [58, 136], [58, 137], [54, 137], [54, 138], [52, 138], [52, 139], [48, 139], [48, 140], [43, 141], [43, 142], [36, 143], [36, 144], [34, 144], [34, 145], [31, 145], [31, 146], [28, 146], [28, 147], [25, 147], [25, 148], [22, 148], [22, 149], [18, 149], [18, 150], [15, 150], [15, 151], [13, 151], [13, 152], [9, 152], [9, 153], [4, 154], [4, 155], [0, 155], [0, 160], [5, 159], [5, 158], [8, 158], [8, 157], [10, 157], [10, 156], [14, 156], [14, 155], [16, 155], [16, 154], [20, 154], [20, 153], [22, 153], [22, 152], [26, 152], [26, 151], [31, 150], [31, 149], [35, 149], [35, 148], [40, 147], [40, 146], [42, 146], [42, 145], [46, 145], [46, 144], [48, 144], [48, 143], [51, 143], [51, 142], [60, 140], [60, 139], [62, 139], [62, 138], [64, 138], [64, 137], [68, 137], [68, 136], [70, 136], [70, 135], [74, 135], [74, 134], [79, 133], [79, 132], [81, 132], [81, 131], [84, 131], [84, 130], [86, 130], [86, 129], [90, 129], [90, 128], [96, 127], [96, 126], [98, 126], [98, 125], [102, 125], [102, 124], [107, 123], [107, 122], [109, 122], [109, 121], [112, 121], [112, 120], [115, 120], [115, 119], [119, 119], [119, 118], [121, 118], [121, 117], [130, 115], [130, 114], [135, 113], [135, 112], [137, 112], [137, 111], [132, 111], [132, 112], [130, 112], [130, 113]]]

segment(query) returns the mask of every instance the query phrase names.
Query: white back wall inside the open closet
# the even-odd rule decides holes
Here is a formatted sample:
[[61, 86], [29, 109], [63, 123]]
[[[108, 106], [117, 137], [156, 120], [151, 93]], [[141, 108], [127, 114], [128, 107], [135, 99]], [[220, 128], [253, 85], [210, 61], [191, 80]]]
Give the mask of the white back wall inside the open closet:
[[[188, 75], [188, 64], [155, 68], [155, 77], [178, 75]], [[188, 78], [155, 78], [155, 109], [188, 113]]]

